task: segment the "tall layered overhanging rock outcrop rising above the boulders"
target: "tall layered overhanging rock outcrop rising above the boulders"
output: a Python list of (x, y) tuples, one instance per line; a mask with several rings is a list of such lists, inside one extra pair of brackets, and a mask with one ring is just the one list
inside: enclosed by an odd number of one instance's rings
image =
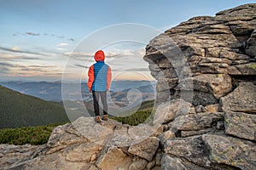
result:
[(212, 105), (237, 82), (255, 83), (255, 13), (255, 4), (242, 5), (215, 17), (192, 18), (154, 37), (144, 59), (158, 81), (157, 99), (188, 100), (189, 94), (193, 105)]

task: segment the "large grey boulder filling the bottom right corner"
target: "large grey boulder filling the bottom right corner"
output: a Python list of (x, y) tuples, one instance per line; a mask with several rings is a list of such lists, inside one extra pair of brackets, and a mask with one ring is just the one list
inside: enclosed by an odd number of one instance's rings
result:
[(202, 139), (210, 151), (212, 162), (245, 170), (256, 169), (255, 143), (224, 134), (204, 134)]

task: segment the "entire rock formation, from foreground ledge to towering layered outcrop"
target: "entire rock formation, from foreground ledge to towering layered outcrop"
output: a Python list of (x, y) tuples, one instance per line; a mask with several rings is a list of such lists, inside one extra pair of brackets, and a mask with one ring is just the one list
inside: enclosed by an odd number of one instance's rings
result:
[(80, 117), (48, 144), (0, 145), (3, 169), (256, 169), (256, 4), (195, 17), (148, 44), (160, 105), (137, 127)]

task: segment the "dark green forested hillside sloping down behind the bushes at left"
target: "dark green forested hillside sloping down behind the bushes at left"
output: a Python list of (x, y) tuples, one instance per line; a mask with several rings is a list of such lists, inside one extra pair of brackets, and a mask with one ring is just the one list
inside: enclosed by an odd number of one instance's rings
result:
[(60, 104), (20, 94), (0, 86), (0, 129), (69, 122)]

